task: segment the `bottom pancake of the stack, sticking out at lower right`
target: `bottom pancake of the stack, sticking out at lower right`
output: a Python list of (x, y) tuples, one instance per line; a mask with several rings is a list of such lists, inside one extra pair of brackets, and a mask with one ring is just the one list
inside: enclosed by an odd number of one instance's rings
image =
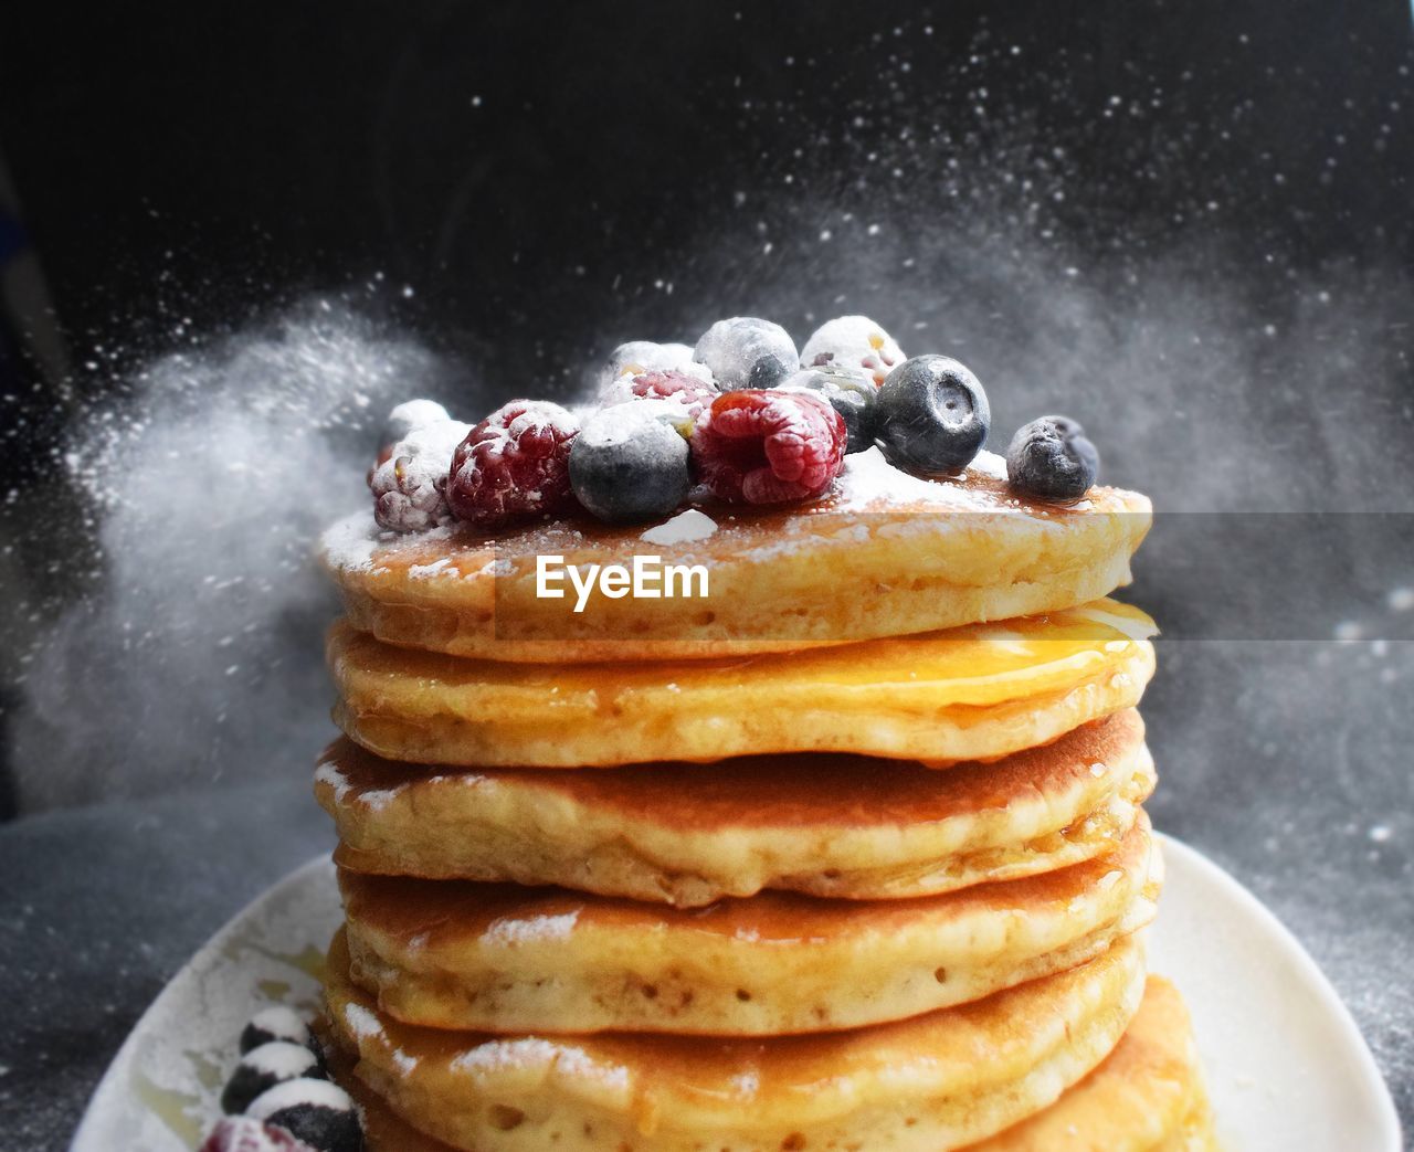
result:
[[(327, 1025), (324, 1025), (327, 1029)], [(363, 1114), (368, 1152), (451, 1152), (399, 1118), (328, 1047), (332, 1076)], [(806, 1149), (813, 1148), (806, 1132)], [(1114, 1052), (1049, 1108), (966, 1152), (1216, 1152), (1188, 1013), (1174, 987), (1150, 977)]]

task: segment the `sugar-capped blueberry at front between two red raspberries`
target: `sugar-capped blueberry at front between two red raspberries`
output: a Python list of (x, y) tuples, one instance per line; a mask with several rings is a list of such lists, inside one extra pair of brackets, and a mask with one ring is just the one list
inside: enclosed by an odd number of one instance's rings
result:
[(676, 509), (691, 485), (687, 441), (673, 425), (673, 414), (680, 411), (656, 400), (619, 404), (590, 417), (570, 448), (570, 482), (580, 503), (614, 524)]

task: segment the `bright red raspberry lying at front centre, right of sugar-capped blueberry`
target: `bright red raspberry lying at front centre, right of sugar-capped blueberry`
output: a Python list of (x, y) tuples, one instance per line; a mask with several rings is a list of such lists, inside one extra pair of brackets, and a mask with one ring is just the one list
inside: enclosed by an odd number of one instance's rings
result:
[(844, 420), (816, 396), (741, 389), (713, 400), (690, 441), (714, 496), (775, 505), (819, 496), (844, 462)]

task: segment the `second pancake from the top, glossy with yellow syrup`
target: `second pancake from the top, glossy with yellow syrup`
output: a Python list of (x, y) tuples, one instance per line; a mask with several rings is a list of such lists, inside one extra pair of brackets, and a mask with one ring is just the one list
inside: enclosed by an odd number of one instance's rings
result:
[(1001, 625), (738, 660), (503, 664), (329, 633), (356, 743), (420, 763), (583, 768), (771, 752), (950, 763), (1138, 703), (1152, 621), (1116, 601)]

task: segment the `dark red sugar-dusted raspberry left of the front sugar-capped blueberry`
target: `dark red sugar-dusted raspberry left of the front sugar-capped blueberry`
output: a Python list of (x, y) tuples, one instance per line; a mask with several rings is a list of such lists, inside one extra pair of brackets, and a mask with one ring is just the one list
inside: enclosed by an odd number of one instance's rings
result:
[(574, 507), (570, 442), (580, 424), (559, 404), (512, 400), (457, 447), (447, 481), (452, 515), (492, 530)]

